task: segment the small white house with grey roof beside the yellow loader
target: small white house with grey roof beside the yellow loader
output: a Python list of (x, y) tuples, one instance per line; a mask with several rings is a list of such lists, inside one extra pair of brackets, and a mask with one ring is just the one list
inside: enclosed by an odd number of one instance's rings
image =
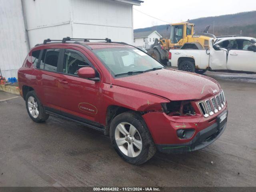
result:
[(150, 48), (154, 44), (155, 38), (160, 39), (162, 36), (157, 31), (151, 32), (134, 32), (133, 44), (137, 47)]

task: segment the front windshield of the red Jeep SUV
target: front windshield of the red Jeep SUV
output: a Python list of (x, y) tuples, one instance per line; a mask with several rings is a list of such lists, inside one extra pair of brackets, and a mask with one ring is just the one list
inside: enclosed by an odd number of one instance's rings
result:
[(104, 48), (92, 51), (114, 76), (138, 74), (165, 68), (148, 54), (136, 48)]

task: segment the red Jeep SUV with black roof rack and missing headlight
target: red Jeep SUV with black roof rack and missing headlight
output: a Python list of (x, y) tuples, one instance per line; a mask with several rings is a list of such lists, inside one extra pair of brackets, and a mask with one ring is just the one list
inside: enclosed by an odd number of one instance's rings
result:
[(89, 40), (47, 39), (30, 50), (18, 82), (34, 122), (51, 114), (99, 130), (132, 164), (156, 150), (202, 149), (224, 132), (227, 103), (218, 82), (167, 69), (123, 42)]

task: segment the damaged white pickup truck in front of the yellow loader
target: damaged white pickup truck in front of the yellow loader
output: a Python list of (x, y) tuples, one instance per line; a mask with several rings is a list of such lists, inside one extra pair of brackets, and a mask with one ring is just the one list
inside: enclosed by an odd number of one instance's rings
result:
[(170, 50), (171, 66), (179, 70), (203, 74), (206, 70), (232, 70), (256, 72), (256, 38), (226, 37), (210, 39), (209, 48), (189, 43)]

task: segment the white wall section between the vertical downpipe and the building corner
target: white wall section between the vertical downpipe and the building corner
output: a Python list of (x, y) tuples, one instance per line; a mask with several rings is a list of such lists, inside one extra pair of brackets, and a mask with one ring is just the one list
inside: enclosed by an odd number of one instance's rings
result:
[(23, 0), (30, 46), (72, 36), (70, 0)]

